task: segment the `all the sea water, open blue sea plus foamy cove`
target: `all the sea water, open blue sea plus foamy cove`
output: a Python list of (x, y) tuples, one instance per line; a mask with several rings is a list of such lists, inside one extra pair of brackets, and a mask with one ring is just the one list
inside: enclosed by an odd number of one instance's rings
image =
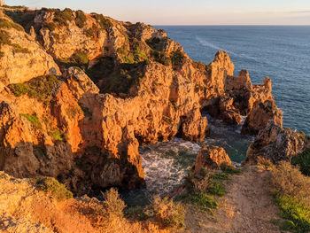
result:
[[(276, 105), (283, 111), (283, 127), (310, 134), (310, 26), (156, 26), (164, 29), (195, 61), (209, 64), (218, 50), (226, 50), (235, 75), (247, 69), (252, 83), (271, 78)], [(210, 135), (203, 142), (172, 142), (140, 147), (146, 188), (132, 190), (128, 205), (141, 204), (154, 194), (165, 195), (190, 172), (203, 144), (222, 146), (239, 165), (253, 136), (240, 134), (242, 125), (226, 126), (207, 113)], [(244, 119), (243, 119), (244, 120)]]

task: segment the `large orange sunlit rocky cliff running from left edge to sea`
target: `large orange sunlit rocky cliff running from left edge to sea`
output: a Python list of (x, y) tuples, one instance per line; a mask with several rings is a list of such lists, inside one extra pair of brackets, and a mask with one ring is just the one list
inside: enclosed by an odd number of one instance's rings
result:
[(200, 141), (201, 111), (238, 124), (253, 106), (274, 103), (270, 79), (252, 85), (245, 70), (235, 77), (226, 52), (209, 65), (194, 62), (143, 23), (70, 9), (5, 13), (0, 169), (10, 175), (57, 177), (76, 194), (133, 189), (143, 185), (139, 144)]

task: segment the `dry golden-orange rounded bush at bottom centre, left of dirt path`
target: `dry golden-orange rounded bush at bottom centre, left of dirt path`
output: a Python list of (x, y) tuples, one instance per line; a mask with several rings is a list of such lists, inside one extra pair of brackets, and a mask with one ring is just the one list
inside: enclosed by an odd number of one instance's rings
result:
[(185, 226), (184, 207), (172, 199), (155, 197), (152, 203), (154, 215), (165, 228), (181, 229)]

